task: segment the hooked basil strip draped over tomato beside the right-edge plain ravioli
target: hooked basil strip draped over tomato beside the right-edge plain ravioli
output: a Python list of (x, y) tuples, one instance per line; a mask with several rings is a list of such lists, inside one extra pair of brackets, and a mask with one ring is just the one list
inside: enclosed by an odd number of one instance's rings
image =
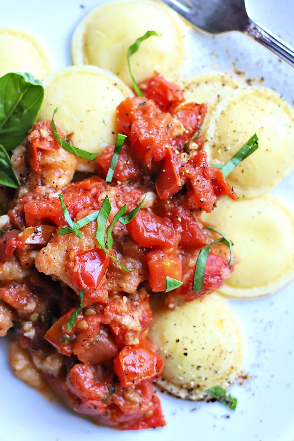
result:
[(202, 285), (203, 285), (203, 278), (204, 278), (204, 272), (206, 267), (206, 262), (208, 258), (209, 248), (212, 244), (217, 244), (221, 242), (222, 244), (227, 245), (230, 248), (230, 262), (229, 265), (232, 265), (234, 260), (233, 255), (233, 248), (234, 245), (233, 242), (228, 239), (221, 231), (217, 230), (217, 228), (212, 226), (207, 226), (206, 228), (209, 228), (210, 230), (216, 231), (219, 233), (222, 237), (219, 239), (216, 239), (215, 241), (211, 242), (211, 244), (208, 244), (206, 246), (203, 246), (203, 248), (200, 249), (199, 255), (197, 257), (196, 266), (195, 266), (195, 272), (194, 272), (194, 278), (193, 278), (193, 291), (201, 291)]

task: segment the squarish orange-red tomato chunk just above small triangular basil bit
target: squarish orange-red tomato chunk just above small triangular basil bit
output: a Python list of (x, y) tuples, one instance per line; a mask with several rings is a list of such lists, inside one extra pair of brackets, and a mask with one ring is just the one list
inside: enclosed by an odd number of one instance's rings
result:
[(153, 292), (166, 290), (166, 277), (182, 278), (182, 262), (178, 256), (171, 256), (162, 250), (152, 250), (145, 255), (149, 269), (149, 286)]

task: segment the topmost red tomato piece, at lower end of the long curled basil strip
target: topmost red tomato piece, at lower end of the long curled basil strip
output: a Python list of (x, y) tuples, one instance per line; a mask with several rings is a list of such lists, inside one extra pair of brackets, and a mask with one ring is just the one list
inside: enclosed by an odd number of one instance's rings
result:
[(163, 112), (172, 112), (181, 102), (185, 101), (184, 94), (174, 83), (161, 75), (155, 75), (139, 85), (145, 97), (153, 99)]

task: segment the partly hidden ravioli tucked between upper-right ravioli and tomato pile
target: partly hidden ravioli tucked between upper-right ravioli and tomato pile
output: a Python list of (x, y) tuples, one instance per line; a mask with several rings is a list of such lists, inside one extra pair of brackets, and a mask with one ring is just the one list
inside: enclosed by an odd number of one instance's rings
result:
[(218, 103), (238, 87), (245, 86), (240, 80), (221, 72), (205, 72), (184, 76), (178, 84), (187, 102), (207, 103), (207, 114), (202, 124), (202, 131), (206, 129), (212, 112)]

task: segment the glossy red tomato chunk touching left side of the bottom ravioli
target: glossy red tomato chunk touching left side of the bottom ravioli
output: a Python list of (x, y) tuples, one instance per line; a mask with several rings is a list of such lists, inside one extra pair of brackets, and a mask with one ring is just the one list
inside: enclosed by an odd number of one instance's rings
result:
[(142, 337), (134, 346), (124, 346), (114, 358), (114, 371), (123, 387), (133, 386), (159, 375), (163, 360), (153, 352)]

